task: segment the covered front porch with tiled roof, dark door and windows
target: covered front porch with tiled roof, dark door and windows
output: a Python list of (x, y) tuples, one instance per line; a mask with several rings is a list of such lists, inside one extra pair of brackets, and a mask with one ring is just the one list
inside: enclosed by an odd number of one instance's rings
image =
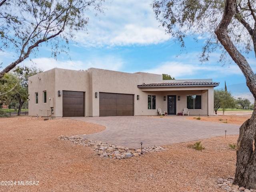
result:
[[(188, 108), (189, 115), (214, 115), (214, 87), (215, 82), (171, 82), (160, 84), (142, 84), (138, 88), (148, 95), (148, 105), (161, 108), (168, 115), (182, 113)], [(150, 98), (151, 97), (151, 98)], [(155, 103), (152, 102), (153, 97)], [(150, 106), (148, 106), (150, 110)]]

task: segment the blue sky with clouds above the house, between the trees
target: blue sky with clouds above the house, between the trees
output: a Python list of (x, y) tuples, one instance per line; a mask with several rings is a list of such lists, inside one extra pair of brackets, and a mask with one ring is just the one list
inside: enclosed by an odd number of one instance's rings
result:
[[(222, 66), (218, 52), (212, 53), (210, 61), (201, 64), (198, 59), (204, 39), (198, 43), (192, 38), (186, 40), (186, 51), (165, 34), (155, 19), (148, 0), (112, 0), (105, 2), (104, 14), (90, 17), (88, 32), (76, 34), (77, 44), (70, 43), (70, 57), (61, 54), (58, 60), (51, 58), (48, 47), (39, 48), (36, 58), (31, 55), (36, 66), (43, 70), (54, 67), (72, 70), (102, 68), (121, 72), (148, 72), (169, 74), (176, 79), (212, 78), (220, 82), (219, 87), (245, 83), (245, 78), (234, 63)], [(3, 67), (10, 64), (13, 53), (0, 53)], [(177, 57), (177, 55), (179, 56)], [(255, 56), (248, 58), (253, 70), (256, 69)], [(30, 66), (28, 60), (22, 64)]]

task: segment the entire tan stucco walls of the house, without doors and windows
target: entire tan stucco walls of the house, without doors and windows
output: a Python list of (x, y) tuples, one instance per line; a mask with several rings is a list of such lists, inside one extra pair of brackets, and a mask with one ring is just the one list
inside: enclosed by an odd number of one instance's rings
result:
[[(185, 82), (188, 80), (162, 80), (162, 74), (124, 73), (111, 70), (90, 68), (87, 71), (52, 70), (34, 75), (29, 78), (29, 115), (47, 116), (50, 102), (44, 104), (43, 91), (47, 91), (47, 98), (54, 98), (54, 118), (62, 117), (62, 96), (58, 97), (58, 90), (85, 92), (85, 116), (99, 116), (99, 98), (95, 92), (133, 94), (134, 115), (157, 115), (157, 108), (167, 112), (167, 96), (176, 95), (176, 113), (186, 107), (187, 95), (202, 95), (202, 109), (190, 110), (190, 115), (213, 115), (213, 87), (171, 87), (171, 88), (138, 88), (141, 84), (161, 82)], [(189, 81), (211, 81), (189, 80)], [(38, 92), (38, 104), (35, 104), (35, 92)], [(140, 95), (140, 100), (136, 96)], [(156, 110), (148, 110), (148, 95), (156, 95)], [(164, 101), (166, 96), (166, 101)], [(180, 96), (180, 101), (178, 101)], [(49, 113), (49, 112), (48, 112)]]

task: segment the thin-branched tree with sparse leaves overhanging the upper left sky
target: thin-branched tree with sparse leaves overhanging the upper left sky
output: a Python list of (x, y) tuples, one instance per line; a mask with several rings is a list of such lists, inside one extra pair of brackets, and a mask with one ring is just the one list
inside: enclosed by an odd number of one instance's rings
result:
[(56, 58), (68, 50), (77, 31), (86, 30), (90, 10), (102, 12), (104, 0), (0, 0), (0, 50), (13, 48), (17, 59), (0, 72), (0, 78), (45, 43)]

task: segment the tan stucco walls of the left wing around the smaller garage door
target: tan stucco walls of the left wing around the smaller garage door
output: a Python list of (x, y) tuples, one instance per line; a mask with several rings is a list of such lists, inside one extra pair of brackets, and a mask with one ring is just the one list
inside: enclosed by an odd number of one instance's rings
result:
[[(86, 91), (89, 90), (88, 72), (65, 70), (54, 68), (46, 72), (36, 74), (28, 78), (29, 112), (31, 116), (47, 116), (50, 110), (49, 98), (54, 98), (54, 118), (62, 117), (62, 96), (58, 96), (58, 90), (85, 92), (85, 100), (88, 97)], [(43, 91), (46, 90), (47, 102), (43, 103)], [(38, 104), (35, 104), (35, 93), (38, 92)], [(86, 102), (85, 102), (86, 103)], [(85, 112), (86, 113), (86, 112)]]

